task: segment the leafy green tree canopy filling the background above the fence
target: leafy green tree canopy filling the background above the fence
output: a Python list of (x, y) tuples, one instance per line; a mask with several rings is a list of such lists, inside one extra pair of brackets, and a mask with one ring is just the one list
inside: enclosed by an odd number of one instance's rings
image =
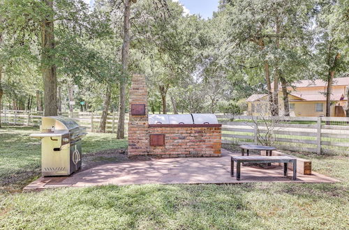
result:
[(1, 107), (45, 115), (75, 107), (122, 119), (135, 72), (147, 76), (151, 112), (242, 112), (267, 93), (277, 115), (280, 85), (287, 115), (299, 79), (331, 86), (348, 74), (345, 0), (220, 1), (209, 19), (171, 0), (2, 0), (0, 22)]

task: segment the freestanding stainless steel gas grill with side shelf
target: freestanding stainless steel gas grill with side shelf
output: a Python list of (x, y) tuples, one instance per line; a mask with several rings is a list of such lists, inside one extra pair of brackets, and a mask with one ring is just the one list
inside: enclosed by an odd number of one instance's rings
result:
[(86, 129), (64, 116), (42, 118), (40, 133), (30, 135), (41, 139), (43, 176), (68, 176), (81, 168), (81, 142)]

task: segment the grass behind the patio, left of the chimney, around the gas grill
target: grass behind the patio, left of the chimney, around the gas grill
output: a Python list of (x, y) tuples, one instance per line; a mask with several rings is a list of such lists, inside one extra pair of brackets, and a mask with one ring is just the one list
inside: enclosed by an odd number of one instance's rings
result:
[[(26, 183), (40, 174), (40, 140), (29, 137), (38, 128), (4, 126), (0, 129), (0, 187)], [(82, 143), (82, 152), (91, 153), (110, 148), (127, 148), (126, 140), (116, 135), (89, 133)]]

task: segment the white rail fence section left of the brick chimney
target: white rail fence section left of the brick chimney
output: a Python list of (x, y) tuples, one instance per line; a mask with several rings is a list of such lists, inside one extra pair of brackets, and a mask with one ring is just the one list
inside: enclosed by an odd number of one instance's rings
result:
[[(81, 127), (87, 128), (89, 132), (96, 132), (99, 129), (102, 112), (59, 112), (61, 116), (73, 118)], [(1, 123), (13, 125), (40, 125), (43, 112), (25, 110), (1, 110)], [(117, 112), (108, 113), (106, 132), (117, 132)], [(125, 117), (125, 132), (127, 133), (128, 114)]]

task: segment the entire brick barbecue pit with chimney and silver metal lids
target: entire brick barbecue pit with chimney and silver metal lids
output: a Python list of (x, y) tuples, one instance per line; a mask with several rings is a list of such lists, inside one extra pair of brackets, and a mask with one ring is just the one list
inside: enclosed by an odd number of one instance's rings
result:
[(128, 155), (159, 158), (221, 156), (221, 124), (214, 114), (149, 115), (144, 75), (130, 90)]

